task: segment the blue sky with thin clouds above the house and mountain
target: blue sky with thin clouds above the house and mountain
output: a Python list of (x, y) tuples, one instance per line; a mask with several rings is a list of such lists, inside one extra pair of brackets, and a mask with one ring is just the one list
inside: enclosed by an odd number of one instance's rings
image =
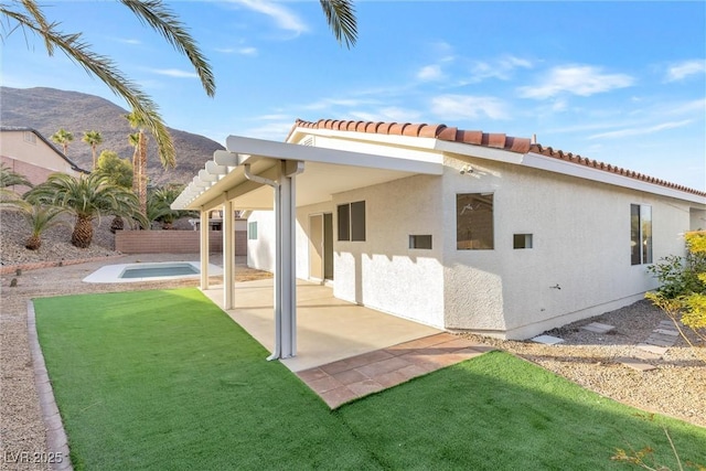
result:
[[(228, 135), (281, 141), (297, 118), (440, 122), (536, 135), (545, 147), (706, 190), (703, 1), (359, 1), (350, 50), (318, 1), (169, 2), (213, 66), (215, 98), (117, 2), (41, 3), (64, 32), (83, 32), (113, 57), (168, 126), (221, 143)], [(2, 85), (125, 107), (42, 47), (21, 32), (7, 38)]]

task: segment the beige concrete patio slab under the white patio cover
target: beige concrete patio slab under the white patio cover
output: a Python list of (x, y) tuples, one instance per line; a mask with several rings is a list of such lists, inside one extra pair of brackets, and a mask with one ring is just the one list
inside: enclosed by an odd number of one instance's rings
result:
[[(222, 286), (211, 287), (204, 293), (223, 308)], [(226, 311), (228, 315), (271, 352), (275, 338), (272, 280), (236, 283), (234, 302), (235, 309)], [(297, 280), (297, 356), (281, 362), (292, 372), (300, 372), (441, 332), (336, 299), (330, 287)], [(448, 340), (458, 339), (445, 335)], [(410, 349), (418, 346), (410, 345)]]

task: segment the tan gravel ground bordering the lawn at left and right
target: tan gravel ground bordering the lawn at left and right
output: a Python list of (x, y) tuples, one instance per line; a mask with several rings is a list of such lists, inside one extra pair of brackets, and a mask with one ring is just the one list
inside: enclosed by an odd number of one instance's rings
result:
[[(14, 270), (1, 277), (0, 301), (0, 457), (26, 451), (46, 453), (46, 433), (42, 422), (34, 386), (32, 358), (28, 346), (26, 303), (32, 298), (85, 292), (126, 291), (151, 288), (196, 286), (194, 280), (153, 281), (148, 283), (90, 285), (81, 280), (103, 265), (135, 261), (197, 260), (197, 255), (127, 256), (113, 250), (113, 235), (107, 231), (109, 218), (96, 227), (94, 245), (77, 249), (69, 243), (71, 229), (56, 227), (43, 236), (43, 247), (31, 253), (24, 248), (26, 227), (17, 215), (0, 211), (0, 255), (3, 268), (41, 261), (64, 261), (63, 266)], [(98, 261), (72, 265), (71, 261)], [(109, 261), (106, 261), (108, 259)], [(239, 271), (238, 271), (239, 270)], [(238, 267), (239, 279), (268, 276)], [(11, 287), (12, 280), (17, 286)], [(252, 278), (250, 278), (252, 279)], [(683, 339), (677, 339), (660, 357), (645, 360), (655, 370), (641, 372), (622, 364), (619, 358), (634, 357), (661, 321), (667, 319), (648, 301), (605, 313), (547, 332), (561, 338), (563, 343), (544, 345), (531, 341), (501, 341), (468, 335), (474, 340), (509, 351), (565, 376), (599, 394), (706, 427), (706, 365)], [(614, 327), (599, 334), (581, 329), (590, 322)], [(699, 345), (704, 349), (706, 345)], [(617, 443), (620, 446), (621, 443)], [(0, 460), (0, 469), (50, 469), (49, 464), (26, 464), (18, 468)]]

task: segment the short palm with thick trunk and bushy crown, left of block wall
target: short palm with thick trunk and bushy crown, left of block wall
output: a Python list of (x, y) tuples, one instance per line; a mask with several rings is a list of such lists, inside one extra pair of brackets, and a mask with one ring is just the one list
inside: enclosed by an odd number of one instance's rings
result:
[(135, 217), (141, 224), (147, 223), (139, 213), (135, 194), (108, 183), (106, 176), (98, 173), (81, 176), (53, 173), (46, 182), (28, 192), (25, 199), (32, 204), (61, 206), (74, 214), (76, 222), (71, 243), (78, 248), (90, 246), (93, 221), (101, 215)]

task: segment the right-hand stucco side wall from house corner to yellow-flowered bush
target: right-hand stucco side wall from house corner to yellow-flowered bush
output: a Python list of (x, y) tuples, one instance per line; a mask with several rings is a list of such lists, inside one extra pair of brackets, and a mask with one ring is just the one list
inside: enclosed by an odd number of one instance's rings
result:
[[(473, 174), (459, 173), (466, 162)], [(653, 260), (683, 253), (689, 207), (677, 200), (504, 163), (447, 164), (445, 226), (467, 192), (494, 193), (495, 223), (493, 250), (456, 250), (446, 234), (447, 328), (524, 339), (641, 299), (656, 282), (630, 263), (630, 204), (652, 206)], [(533, 248), (513, 249), (513, 234), (533, 234)]]

